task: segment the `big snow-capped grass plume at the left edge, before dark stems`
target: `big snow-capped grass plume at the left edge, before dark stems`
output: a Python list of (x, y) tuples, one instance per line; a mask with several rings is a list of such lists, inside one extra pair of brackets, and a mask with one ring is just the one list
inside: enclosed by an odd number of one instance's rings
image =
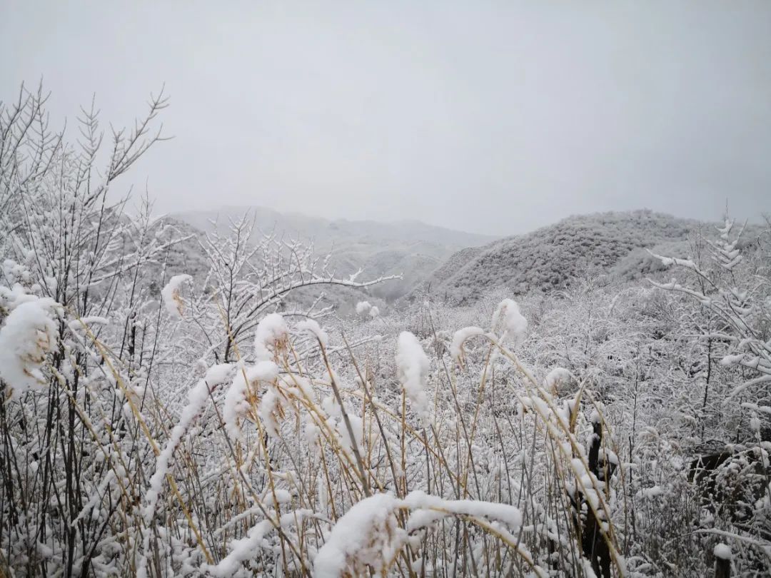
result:
[(14, 398), (45, 385), (42, 367), (56, 346), (56, 301), (49, 297), (24, 301), (11, 311), (0, 328), (0, 378)]

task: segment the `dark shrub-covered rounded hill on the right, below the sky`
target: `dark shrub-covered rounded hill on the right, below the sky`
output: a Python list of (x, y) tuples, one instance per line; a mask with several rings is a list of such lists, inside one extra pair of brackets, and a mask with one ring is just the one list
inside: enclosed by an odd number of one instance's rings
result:
[(704, 225), (650, 210), (568, 217), (529, 234), (458, 251), (408, 298), (428, 292), (463, 304), (490, 289), (550, 291), (586, 274), (641, 277), (659, 268), (645, 248), (687, 254), (689, 236), (699, 227)]

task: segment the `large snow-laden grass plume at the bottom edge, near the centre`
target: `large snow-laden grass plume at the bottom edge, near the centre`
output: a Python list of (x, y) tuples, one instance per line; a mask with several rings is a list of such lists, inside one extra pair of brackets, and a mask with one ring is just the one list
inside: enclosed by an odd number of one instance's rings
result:
[(380, 493), (357, 502), (338, 519), (313, 561), (315, 578), (356, 575), (372, 566), (375, 573), (398, 552), (404, 538), (396, 524), (399, 501)]

